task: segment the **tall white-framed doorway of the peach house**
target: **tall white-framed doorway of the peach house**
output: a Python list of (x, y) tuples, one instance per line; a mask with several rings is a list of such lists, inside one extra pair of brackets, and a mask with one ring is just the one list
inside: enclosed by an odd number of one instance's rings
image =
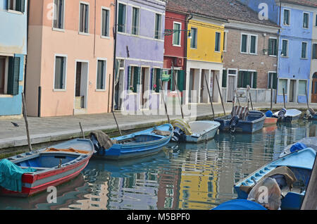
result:
[(88, 63), (76, 62), (75, 110), (87, 108)]

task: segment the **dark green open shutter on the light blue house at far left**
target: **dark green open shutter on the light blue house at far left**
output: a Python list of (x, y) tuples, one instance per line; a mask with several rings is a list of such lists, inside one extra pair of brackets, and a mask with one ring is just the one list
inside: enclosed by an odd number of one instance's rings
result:
[(20, 58), (9, 57), (8, 62), (8, 94), (19, 94)]

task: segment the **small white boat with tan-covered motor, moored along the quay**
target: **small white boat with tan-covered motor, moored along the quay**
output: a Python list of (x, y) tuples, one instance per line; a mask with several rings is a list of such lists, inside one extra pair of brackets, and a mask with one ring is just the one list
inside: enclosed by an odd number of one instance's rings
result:
[(173, 123), (174, 142), (203, 142), (215, 137), (220, 123), (211, 120), (200, 120), (186, 123), (184, 120), (175, 120)]

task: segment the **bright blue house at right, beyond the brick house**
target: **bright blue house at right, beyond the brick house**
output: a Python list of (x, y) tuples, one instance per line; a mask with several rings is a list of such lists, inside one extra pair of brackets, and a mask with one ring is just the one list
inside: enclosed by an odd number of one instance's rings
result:
[[(240, 0), (257, 12), (268, 7), (268, 19), (281, 29), (278, 40), (272, 43), (278, 49), (277, 102), (306, 103), (309, 95), (313, 11), (316, 3), (301, 0)], [(266, 4), (266, 5), (264, 5)], [(284, 91), (283, 91), (284, 89)], [(309, 96), (308, 96), (309, 97)]]

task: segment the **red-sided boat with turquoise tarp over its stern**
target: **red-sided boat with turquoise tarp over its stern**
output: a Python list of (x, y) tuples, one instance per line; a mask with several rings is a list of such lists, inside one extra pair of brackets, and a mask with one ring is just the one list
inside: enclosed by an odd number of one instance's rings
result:
[(0, 194), (30, 197), (75, 178), (94, 153), (89, 139), (73, 139), (0, 161)]

